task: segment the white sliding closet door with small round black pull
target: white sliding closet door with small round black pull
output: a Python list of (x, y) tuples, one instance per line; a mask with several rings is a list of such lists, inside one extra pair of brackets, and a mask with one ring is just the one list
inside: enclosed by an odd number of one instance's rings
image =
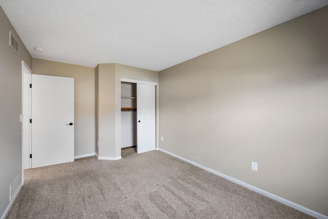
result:
[(155, 86), (137, 84), (137, 152), (156, 147)]

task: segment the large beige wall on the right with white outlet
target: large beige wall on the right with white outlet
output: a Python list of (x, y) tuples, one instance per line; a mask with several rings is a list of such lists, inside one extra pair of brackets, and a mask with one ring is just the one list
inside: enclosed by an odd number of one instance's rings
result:
[(160, 148), (328, 215), (326, 21), (328, 7), (161, 71)]

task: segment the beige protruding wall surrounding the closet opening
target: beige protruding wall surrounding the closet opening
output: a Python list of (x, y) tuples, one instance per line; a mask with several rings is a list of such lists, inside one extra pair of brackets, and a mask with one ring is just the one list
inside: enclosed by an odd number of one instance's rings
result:
[[(99, 64), (96, 75), (98, 155), (117, 158), (121, 156), (121, 78), (158, 83), (158, 72), (120, 64)], [(158, 86), (156, 101), (158, 104)], [(156, 122), (158, 132), (158, 115)]]

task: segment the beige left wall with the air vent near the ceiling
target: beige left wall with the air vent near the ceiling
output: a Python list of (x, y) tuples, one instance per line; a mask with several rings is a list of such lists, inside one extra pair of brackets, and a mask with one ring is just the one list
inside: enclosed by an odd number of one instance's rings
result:
[[(9, 187), (19, 174), (22, 183), (22, 60), (32, 68), (32, 57), (0, 7), (0, 217), (9, 205)], [(9, 47), (9, 31), (19, 43), (19, 54)]]

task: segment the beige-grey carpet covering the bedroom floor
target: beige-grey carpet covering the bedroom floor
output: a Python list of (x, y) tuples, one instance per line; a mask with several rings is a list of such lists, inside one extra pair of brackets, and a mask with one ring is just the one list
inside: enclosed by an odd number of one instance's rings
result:
[(7, 218), (313, 218), (160, 151), (29, 169)]

